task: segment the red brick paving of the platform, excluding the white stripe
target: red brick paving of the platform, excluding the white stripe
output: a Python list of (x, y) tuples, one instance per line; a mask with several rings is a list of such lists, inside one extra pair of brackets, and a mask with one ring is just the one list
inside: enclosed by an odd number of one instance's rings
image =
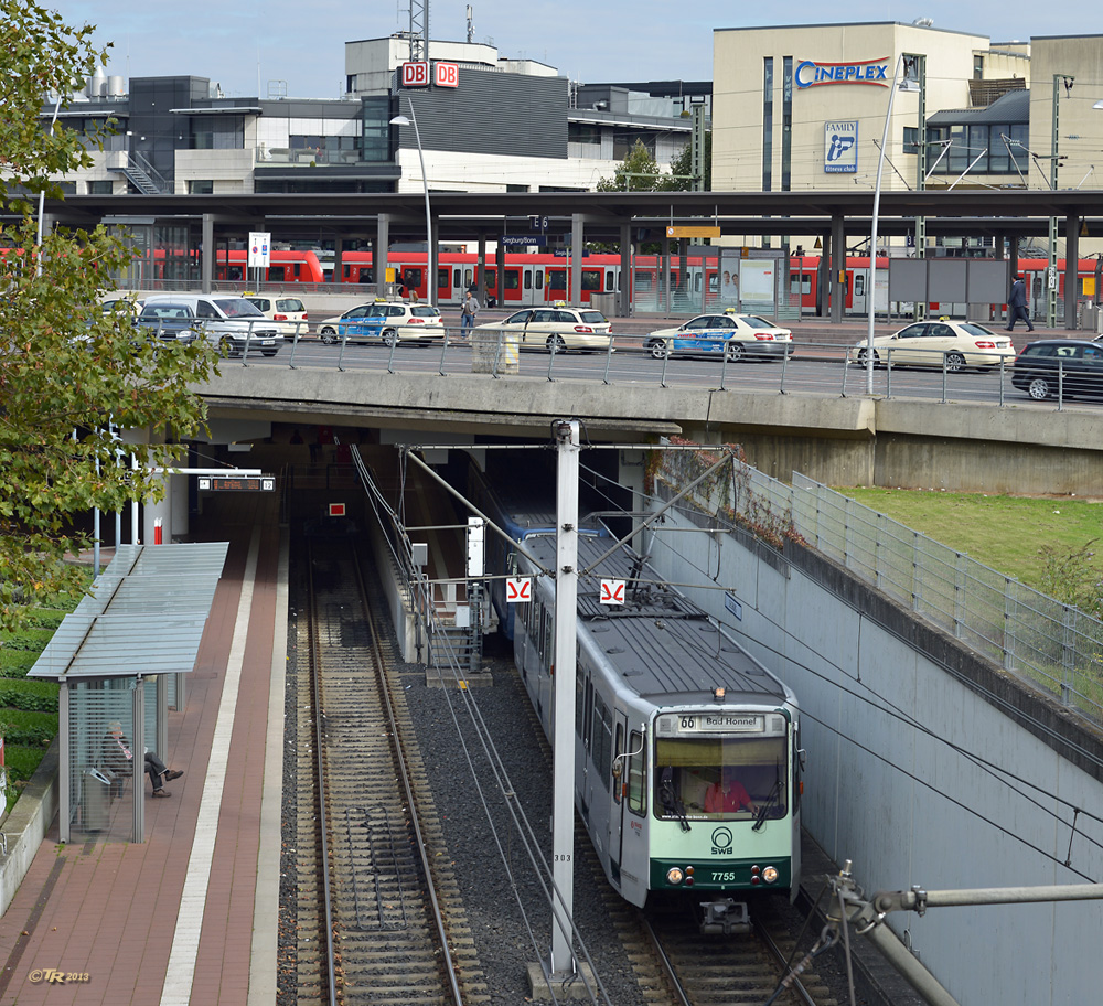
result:
[[(231, 548), (189, 676), (186, 707), (169, 714), (165, 761), (185, 774), (168, 785), (168, 800), (152, 800), (143, 788), (146, 842), (140, 845), (127, 841), (126, 811), (116, 811), (109, 831), (88, 839), (76, 835), (67, 845), (58, 842), (54, 822), (0, 919), (3, 1006), (161, 1003), (246, 556), (258, 526), (240, 688), (191, 988), (194, 1006), (247, 1003), (280, 550), (276, 503), (249, 494), (235, 501), (233, 516), (214, 515), (199, 526), (196, 538), (229, 539)], [(282, 652), (283, 640), (278, 644)]]

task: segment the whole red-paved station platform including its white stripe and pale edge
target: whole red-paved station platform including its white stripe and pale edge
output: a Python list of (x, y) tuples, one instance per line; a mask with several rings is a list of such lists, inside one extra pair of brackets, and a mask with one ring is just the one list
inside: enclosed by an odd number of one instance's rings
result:
[(184, 708), (170, 711), (158, 752), (184, 774), (163, 800), (136, 780), (142, 844), (114, 822), (63, 844), (54, 820), (0, 918), (0, 1004), (276, 1002), (288, 610), (278, 507), (276, 493), (227, 494), (193, 524), (190, 541), (231, 544)]

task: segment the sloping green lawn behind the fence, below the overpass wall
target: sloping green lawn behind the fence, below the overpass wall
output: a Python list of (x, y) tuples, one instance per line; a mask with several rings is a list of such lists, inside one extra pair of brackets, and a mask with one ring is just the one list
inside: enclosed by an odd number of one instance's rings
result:
[(836, 489), (1039, 590), (1043, 589), (1045, 546), (1057, 555), (1068, 555), (1094, 541), (1092, 566), (1103, 578), (1103, 503), (908, 489)]

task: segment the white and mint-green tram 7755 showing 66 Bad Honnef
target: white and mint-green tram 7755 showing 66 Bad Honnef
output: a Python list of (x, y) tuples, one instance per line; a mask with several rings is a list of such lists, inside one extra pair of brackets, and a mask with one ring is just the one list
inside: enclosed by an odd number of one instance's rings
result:
[[(513, 527), (544, 525), (518, 537), (554, 568), (546, 515), (512, 516)], [(580, 535), (579, 568), (611, 541), (597, 527)], [(537, 571), (520, 553), (510, 567)], [(599, 577), (628, 581), (623, 607), (599, 603)], [(640, 907), (653, 892), (682, 892), (705, 903), (707, 918), (756, 889), (793, 898), (803, 757), (796, 699), (657, 580), (628, 548), (579, 579), (575, 802), (593, 847), (609, 881)], [(515, 612), (514, 655), (550, 736), (555, 588), (548, 577), (534, 585), (532, 602)]]

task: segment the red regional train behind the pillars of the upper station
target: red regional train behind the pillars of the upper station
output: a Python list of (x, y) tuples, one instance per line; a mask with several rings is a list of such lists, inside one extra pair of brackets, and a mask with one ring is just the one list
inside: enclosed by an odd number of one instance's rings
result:
[[(160, 256), (158, 256), (160, 259)], [(409, 296), (428, 298), (425, 252), (398, 252), (387, 258), (387, 266), (396, 270), (404, 291)], [(678, 297), (689, 304), (690, 310), (710, 308), (718, 297), (719, 267), (716, 258), (689, 256), (685, 276), (681, 260), (670, 259), (670, 290), (675, 300)], [(160, 265), (160, 261), (159, 261)], [(1027, 280), (1031, 304), (1045, 298), (1045, 258), (1020, 258), (1019, 271)], [(1096, 259), (1080, 259), (1077, 296), (1079, 299), (1096, 299)], [(436, 264), (437, 302), (458, 304), (472, 283), (479, 281), (479, 257), (471, 252), (442, 252)], [(789, 298), (793, 307), (799, 300), (801, 310), (815, 313), (820, 285), (817, 281), (821, 259), (818, 256), (792, 256), (789, 260)], [(250, 278), (246, 269), (246, 252), (221, 250), (216, 261), (216, 278), (223, 281), (245, 282)], [(346, 252), (341, 259), (341, 275), (333, 276), (333, 265), (319, 258), (315, 252), (274, 250), (270, 265), (263, 277), (269, 283), (375, 283), (370, 252)], [(877, 268), (888, 268), (888, 258), (879, 257)], [(161, 271), (158, 269), (157, 271)], [(655, 255), (636, 255), (632, 260), (632, 297), (636, 302), (661, 296), (661, 261)], [(574, 300), (570, 290), (571, 269), (569, 260), (547, 253), (506, 253), (504, 280), (500, 288), (497, 266), (493, 259), (486, 261), (486, 291), (499, 304), (513, 308), (528, 304), (548, 303), (556, 300)], [(161, 277), (159, 277), (161, 278)], [(1090, 281), (1090, 282), (1089, 282)], [(1058, 296), (1064, 297), (1064, 260), (1058, 260)], [(622, 285), (621, 258), (618, 254), (587, 255), (581, 266), (581, 291), (579, 300), (589, 303), (596, 293), (619, 292)], [(846, 260), (846, 286), (844, 287), (844, 312), (865, 315), (869, 310), (870, 276), (869, 256), (849, 256)], [(703, 296), (704, 295), (704, 296)], [(936, 304), (931, 306), (938, 310)]]

